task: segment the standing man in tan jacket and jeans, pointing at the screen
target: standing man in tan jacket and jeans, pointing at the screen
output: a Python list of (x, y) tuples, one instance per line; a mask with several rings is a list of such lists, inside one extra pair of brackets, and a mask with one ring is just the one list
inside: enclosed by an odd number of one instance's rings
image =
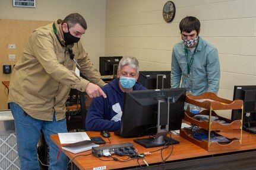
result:
[[(106, 98), (100, 88), (105, 82), (79, 41), (86, 29), (86, 20), (77, 13), (37, 28), (15, 65), (8, 102), (14, 116), (21, 169), (40, 169), (37, 143), (41, 130), (49, 146), (49, 169), (67, 169), (64, 153), (56, 161), (58, 147), (50, 135), (67, 132), (65, 102), (70, 88), (86, 91), (91, 98)], [(75, 74), (76, 66), (88, 80)]]

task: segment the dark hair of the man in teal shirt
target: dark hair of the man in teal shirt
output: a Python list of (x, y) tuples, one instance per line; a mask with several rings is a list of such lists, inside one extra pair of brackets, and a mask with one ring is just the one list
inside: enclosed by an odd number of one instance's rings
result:
[(190, 33), (195, 30), (198, 34), (200, 31), (200, 21), (195, 17), (185, 17), (181, 20), (181, 23), (179, 23), (179, 30), (181, 30), (181, 33), (183, 31)]

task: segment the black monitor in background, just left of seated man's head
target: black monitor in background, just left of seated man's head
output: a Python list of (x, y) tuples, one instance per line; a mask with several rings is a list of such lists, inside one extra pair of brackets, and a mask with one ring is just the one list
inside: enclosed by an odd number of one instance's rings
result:
[(100, 57), (100, 75), (116, 78), (119, 61), (122, 56)]

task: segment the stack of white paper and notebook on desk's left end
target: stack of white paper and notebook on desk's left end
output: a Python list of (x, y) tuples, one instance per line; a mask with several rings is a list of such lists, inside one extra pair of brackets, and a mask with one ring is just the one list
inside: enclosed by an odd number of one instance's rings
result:
[(86, 132), (58, 133), (58, 135), (61, 144), (69, 143), (68, 145), (62, 146), (62, 149), (68, 152), (79, 153), (90, 150), (91, 147), (99, 146), (91, 142)]

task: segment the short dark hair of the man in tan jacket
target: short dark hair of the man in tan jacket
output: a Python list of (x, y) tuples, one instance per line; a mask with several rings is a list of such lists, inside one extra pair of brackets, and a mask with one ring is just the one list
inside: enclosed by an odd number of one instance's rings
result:
[(69, 28), (74, 27), (75, 24), (80, 24), (85, 30), (87, 29), (86, 20), (84, 17), (78, 13), (69, 14), (63, 21), (63, 23), (67, 23)]

